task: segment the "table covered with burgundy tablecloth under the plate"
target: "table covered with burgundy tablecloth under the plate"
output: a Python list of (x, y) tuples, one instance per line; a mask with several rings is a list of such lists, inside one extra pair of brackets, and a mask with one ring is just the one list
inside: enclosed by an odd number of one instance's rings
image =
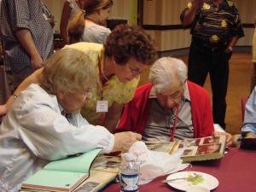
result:
[[(256, 151), (229, 148), (229, 153), (221, 160), (208, 160), (192, 163), (185, 171), (206, 172), (218, 178), (218, 187), (214, 192), (255, 192), (256, 191)], [(177, 192), (158, 177), (151, 183), (141, 185), (140, 192), (160, 191)], [(119, 183), (110, 183), (103, 192), (119, 191)]]

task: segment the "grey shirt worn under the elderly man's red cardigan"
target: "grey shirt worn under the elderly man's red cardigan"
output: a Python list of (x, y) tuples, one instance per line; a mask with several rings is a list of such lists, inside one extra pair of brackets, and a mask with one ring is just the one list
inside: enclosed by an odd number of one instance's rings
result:
[[(173, 129), (176, 116), (172, 110), (169, 110), (168, 116), (166, 117), (166, 111), (157, 101), (154, 89), (151, 90), (149, 99), (151, 99), (151, 106), (148, 114), (148, 122), (143, 132), (143, 141), (170, 141), (171, 131), (169, 130), (168, 121), (170, 121), (171, 129)], [(174, 133), (174, 140), (194, 137), (190, 103), (188, 84), (185, 84), (183, 100), (180, 103), (180, 109), (177, 116), (177, 128)]]

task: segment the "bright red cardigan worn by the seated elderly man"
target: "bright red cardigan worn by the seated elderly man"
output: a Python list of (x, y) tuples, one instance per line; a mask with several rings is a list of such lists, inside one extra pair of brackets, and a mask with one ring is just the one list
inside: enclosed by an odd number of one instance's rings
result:
[[(191, 100), (194, 137), (211, 136), (214, 131), (212, 108), (207, 90), (187, 81)], [(131, 102), (125, 104), (124, 112), (115, 132), (133, 131), (143, 134), (148, 120), (150, 100), (148, 99), (152, 84), (144, 84), (137, 88)]]

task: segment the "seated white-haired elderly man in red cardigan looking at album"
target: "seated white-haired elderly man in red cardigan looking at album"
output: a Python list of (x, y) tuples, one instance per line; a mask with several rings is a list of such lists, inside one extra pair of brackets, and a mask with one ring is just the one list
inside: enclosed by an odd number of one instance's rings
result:
[(207, 90), (187, 80), (183, 61), (160, 58), (150, 68), (149, 80), (125, 104), (114, 132), (137, 132), (146, 143), (225, 134), (231, 144), (230, 134), (214, 131)]

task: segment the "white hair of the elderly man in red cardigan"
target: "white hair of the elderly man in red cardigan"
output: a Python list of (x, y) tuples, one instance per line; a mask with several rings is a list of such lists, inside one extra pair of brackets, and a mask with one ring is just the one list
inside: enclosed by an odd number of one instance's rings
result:
[(157, 92), (170, 88), (174, 79), (184, 84), (187, 77), (188, 68), (185, 63), (173, 57), (162, 57), (155, 61), (149, 73), (149, 80)]

